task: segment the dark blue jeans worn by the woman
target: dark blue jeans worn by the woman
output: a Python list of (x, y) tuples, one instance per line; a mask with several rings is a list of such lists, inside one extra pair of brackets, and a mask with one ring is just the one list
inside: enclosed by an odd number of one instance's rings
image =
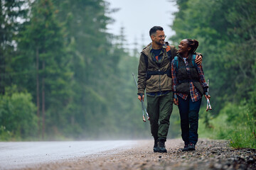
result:
[(201, 101), (193, 102), (191, 96), (186, 100), (178, 96), (178, 110), (181, 117), (181, 137), (185, 145), (198, 142), (198, 113)]

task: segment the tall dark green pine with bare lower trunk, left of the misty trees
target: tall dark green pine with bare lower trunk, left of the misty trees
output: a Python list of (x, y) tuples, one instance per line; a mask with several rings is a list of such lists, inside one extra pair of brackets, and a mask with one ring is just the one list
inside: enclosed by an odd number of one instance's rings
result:
[(48, 128), (55, 126), (56, 130), (62, 123), (65, 124), (61, 121), (61, 113), (68, 106), (70, 95), (70, 59), (65, 55), (63, 33), (55, 18), (56, 12), (51, 0), (34, 1), (31, 21), (26, 23), (26, 28), (21, 32), (18, 46), (19, 60), (26, 60), (22, 72), (33, 74), (25, 75), (30, 80), (29, 83), (17, 83), (26, 86), (36, 98), (37, 115), (40, 117), (40, 113), (42, 114), (42, 138), (46, 132), (46, 124)]

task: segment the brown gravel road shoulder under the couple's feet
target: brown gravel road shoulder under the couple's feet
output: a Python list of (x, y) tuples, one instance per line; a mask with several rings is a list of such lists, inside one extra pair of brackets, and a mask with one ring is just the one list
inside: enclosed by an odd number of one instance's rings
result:
[(154, 153), (152, 147), (153, 140), (142, 140), (115, 154), (102, 152), (33, 169), (256, 169), (255, 149), (233, 149), (223, 140), (199, 140), (196, 151), (189, 152), (181, 152), (181, 140), (168, 140), (168, 153)]

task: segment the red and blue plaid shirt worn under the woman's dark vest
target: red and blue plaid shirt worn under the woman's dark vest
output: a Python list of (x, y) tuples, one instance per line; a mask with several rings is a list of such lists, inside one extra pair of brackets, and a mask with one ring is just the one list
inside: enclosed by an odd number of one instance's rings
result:
[[(188, 60), (186, 60), (186, 66), (188, 66)], [(205, 89), (207, 87), (207, 83), (203, 74), (203, 67), (202, 64), (198, 65), (198, 67), (196, 67), (199, 77), (200, 77), (200, 83), (201, 86), (203, 87), (203, 89)], [(189, 71), (189, 67), (186, 67), (187, 73), (188, 75), (190, 74)], [(174, 94), (176, 94), (176, 86), (177, 86), (177, 72), (174, 66), (174, 60), (171, 61), (171, 76), (172, 76), (172, 83), (173, 83), (173, 91)], [(200, 91), (198, 91), (198, 89), (196, 89), (196, 87), (193, 85), (192, 81), (189, 81), (189, 91), (190, 91), (190, 96), (192, 101), (198, 101), (200, 98), (202, 98)], [(177, 93), (178, 96), (180, 96), (181, 98), (183, 98), (184, 100), (186, 100), (186, 98), (188, 98), (188, 94), (180, 94)]]

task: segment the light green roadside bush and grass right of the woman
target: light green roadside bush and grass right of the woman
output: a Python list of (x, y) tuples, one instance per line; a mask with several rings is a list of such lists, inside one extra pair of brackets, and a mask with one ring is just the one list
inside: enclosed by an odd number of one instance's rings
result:
[(226, 104), (220, 114), (210, 120), (212, 128), (206, 129), (202, 121), (198, 130), (201, 137), (230, 140), (230, 146), (235, 148), (256, 149), (256, 119), (250, 110), (252, 103), (242, 101), (240, 105)]

